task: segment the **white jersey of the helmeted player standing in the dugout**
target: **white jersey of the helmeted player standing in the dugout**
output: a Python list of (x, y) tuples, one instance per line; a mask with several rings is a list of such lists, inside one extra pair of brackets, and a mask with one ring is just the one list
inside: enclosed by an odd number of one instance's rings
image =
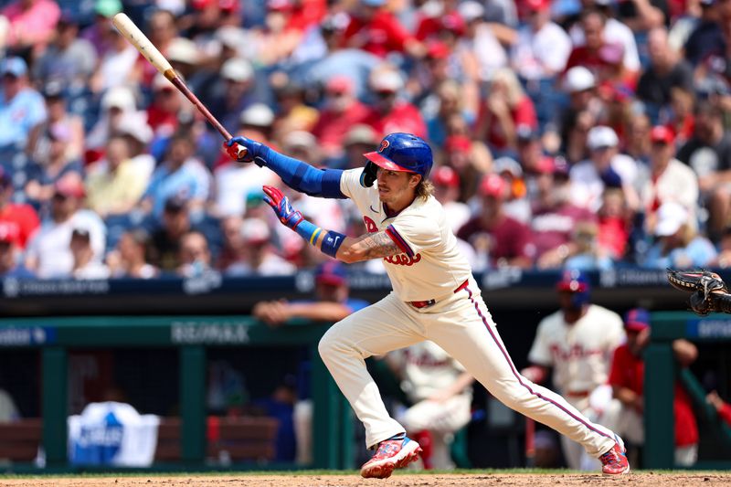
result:
[(614, 349), (625, 338), (620, 315), (596, 304), (577, 323), (560, 310), (538, 324), (528, 359), (554, 367), (554, 384), (562, 392), (592, 391), (605, 384)]

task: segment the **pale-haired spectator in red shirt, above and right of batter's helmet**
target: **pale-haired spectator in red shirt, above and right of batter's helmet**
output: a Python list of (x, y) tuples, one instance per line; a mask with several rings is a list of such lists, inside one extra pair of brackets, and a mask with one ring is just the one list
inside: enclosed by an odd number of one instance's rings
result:
[(538, 126), (533, 101), (525, 94), (512, 69), (495, 71), (490, 94), (480, 111), (476, 136), (497, 154), (516, 149), (519, 126), (533, 130)]

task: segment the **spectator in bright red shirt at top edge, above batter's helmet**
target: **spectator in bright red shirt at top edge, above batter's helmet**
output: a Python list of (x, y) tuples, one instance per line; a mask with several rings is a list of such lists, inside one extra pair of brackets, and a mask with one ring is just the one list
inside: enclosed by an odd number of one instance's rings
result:
[(390, 12), (386, 0), (360, 0), (345, 28), (345, 48), (363, 49), (380, 58), (389, 52), (406, 52), (420, 58), (424, 48)]

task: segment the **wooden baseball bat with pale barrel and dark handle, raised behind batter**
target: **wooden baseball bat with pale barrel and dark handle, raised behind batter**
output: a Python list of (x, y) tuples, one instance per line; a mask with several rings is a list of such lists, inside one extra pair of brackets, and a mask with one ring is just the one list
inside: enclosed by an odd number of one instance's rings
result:
[[(207, 121), (210, 122), (210, 124), (213, 125), (221, 135), (223, 135), (224, 139), (228, 141), (228, 139), (231, 138), (231, 133), (226, 130), (226, 127), (221, 125), (221, 122), (218, 122), (216, 117), (208, 111), (206, 105), (198, 100), (196, 94), (185, 86), (183, 79), (180, 79), (175, 72), (175, 69), (173, 69), (170, 65), (170, 61), (163, 56), (163, 53), (154, 47), (152, 41), (143, 34), (143, 31), (140, 30), (139, 27), (134, 25), (134, 22), (132, 22), (130, 17), (124, 13), (119, 13), (111, 18), (111, 23), (117, 27), (120, 34), (122, 34), (122, 36), (124, 36), (124, 38), (126, 38), (130, 44), (134, 46), (134, 48), (140, 51), (140, 54), (142, 54), (145, 59), (150, 61), (150, 64), (152, 64), (155, 69), (160, 71), (166, 79), (173, 83), (175, 88), (185, 95), (185, 98), (193, 103), (193, 106), (195, 106), (198, 111), (203, 113), (203, 116), (206, 117)], [(243, 156), (245, 153), (246, 149), (239, 146), (238, 157)]]

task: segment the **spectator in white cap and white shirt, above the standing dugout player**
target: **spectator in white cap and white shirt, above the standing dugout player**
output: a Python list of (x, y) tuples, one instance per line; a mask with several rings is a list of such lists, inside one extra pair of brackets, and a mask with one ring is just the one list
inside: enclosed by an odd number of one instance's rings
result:
[(639, 169), (629, 155), (619, 154), (620, 139), (610, 127), (599, 125), (588, 131), (589, 158), (571, 168), (571, 199), (577, 206), (596, 212), (606, 187), (620, 187), (630, 208), (639, 206), (634, 185)]

